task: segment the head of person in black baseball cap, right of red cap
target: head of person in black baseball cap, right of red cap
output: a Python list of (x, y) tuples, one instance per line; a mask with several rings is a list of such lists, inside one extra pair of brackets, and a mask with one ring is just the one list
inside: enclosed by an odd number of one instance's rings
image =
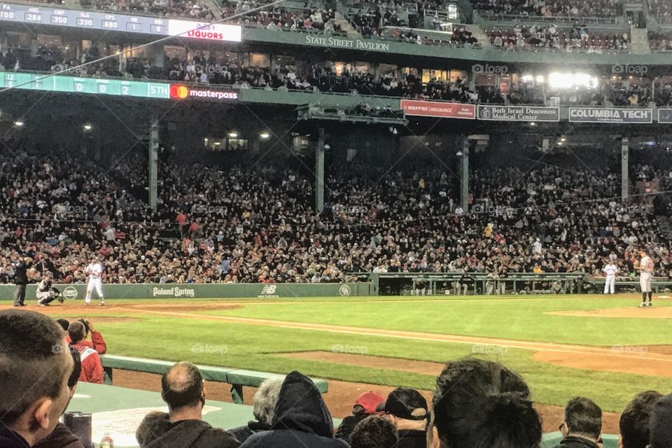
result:
[(391, 391), (385, 412), (399, 432), (398, 448), (425, 448), (427, 444), (427, 400), (412, 388)]

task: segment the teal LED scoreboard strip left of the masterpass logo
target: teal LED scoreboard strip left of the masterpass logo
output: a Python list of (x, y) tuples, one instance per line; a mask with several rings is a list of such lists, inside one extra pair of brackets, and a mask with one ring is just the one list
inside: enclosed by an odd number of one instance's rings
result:
[(106, 94), (127, 97), (169, 99), (169, 83), (151, 83), (118, 79), (47, 76), (14, 71), (0, 72), (0, 89), (16, 87), (43, 92)]

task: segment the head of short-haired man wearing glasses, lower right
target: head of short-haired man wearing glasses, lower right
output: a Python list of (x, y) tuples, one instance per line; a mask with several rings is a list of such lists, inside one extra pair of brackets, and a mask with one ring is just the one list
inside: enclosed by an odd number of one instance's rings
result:
[(569, 400), (560, 426), (563, 439), (556, 448), (598, 448), (602, 435), (602, 409), (589, 398)]

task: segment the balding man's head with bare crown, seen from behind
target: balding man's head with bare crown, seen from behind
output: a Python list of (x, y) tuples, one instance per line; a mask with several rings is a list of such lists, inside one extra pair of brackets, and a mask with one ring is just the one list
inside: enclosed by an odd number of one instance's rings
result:
[(201, 372), (186, 361), (174, 364), (163, 374), (161, 388), (161, 396), (171, 411), (202, 406), (205, 401)]

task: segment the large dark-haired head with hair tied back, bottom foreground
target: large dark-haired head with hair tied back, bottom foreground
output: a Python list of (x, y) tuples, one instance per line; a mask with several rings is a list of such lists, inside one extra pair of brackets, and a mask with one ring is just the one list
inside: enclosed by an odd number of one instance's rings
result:
[(541, 421), (524, 379), (503, 365), (463, 358), (436, 381), (428, 448), (536, 448)]

